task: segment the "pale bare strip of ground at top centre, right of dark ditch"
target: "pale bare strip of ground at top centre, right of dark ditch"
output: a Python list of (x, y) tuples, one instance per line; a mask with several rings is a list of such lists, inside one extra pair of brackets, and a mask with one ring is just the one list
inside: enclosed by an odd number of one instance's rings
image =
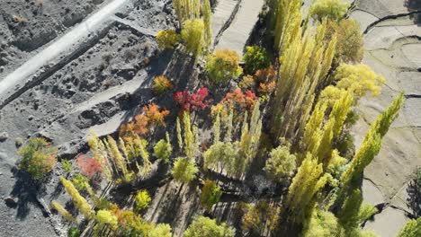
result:
[(263, 5), (264, 0), (243, 0), (236, 18), (224, 31), (216, 48), (236, 50), (238, 55), (242, 56)]

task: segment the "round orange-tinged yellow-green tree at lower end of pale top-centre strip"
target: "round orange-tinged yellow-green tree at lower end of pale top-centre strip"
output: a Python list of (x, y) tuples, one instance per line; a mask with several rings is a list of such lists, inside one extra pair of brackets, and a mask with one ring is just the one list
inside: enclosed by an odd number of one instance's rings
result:
[(205, 68), (213, 83), (221, 83), (241, 75), (242, 68), (238, 64), (237, 52), (223, 49), (216, 50), (215, 54), (209, 56)]

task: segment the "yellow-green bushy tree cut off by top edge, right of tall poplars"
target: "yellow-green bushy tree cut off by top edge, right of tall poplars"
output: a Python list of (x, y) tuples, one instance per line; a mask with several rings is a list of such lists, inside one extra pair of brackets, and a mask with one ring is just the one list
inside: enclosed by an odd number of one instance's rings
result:
[(319, 21), (324, 18), (339, 21), (344, 18), (349, 6), (341, 0), (318, 0), (311, 5), (309, 14)]

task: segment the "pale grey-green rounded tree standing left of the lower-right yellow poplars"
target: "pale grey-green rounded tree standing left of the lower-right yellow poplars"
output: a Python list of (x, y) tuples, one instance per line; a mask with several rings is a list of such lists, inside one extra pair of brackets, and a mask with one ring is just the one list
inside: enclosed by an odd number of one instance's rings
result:
[(273, 149), (269, 159), (266, 161), (264, 171), (274, 181), (281, 181), (292, 176), (296, 168), (296, 156), (290, 154), (288, 146), (278, 146)]

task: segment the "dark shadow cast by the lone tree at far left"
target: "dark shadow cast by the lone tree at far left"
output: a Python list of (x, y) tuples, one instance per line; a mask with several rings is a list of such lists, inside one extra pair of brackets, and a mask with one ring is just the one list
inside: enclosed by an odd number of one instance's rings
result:
[[(31, 212), (30, 204), (40, 207), (43, 215), (46, 215), (37, 199), (37, 196), (44, 191), (41, 185), (42, 180), (33, 180), (29, 173), (20, 171), (15, 167), (13, 167), (12, 172), (16, 182), (10, 196), (14, 201), (8, 202), (6, 205), (17, 209), (16, 218), (24, 220)], [(44, 179), (48, 179), (48, 177)]]

